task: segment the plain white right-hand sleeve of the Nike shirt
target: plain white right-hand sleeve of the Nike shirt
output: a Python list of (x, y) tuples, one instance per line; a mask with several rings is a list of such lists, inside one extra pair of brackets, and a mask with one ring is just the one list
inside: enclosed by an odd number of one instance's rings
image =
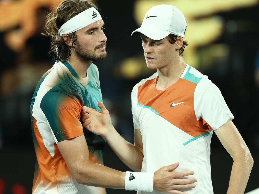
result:
[(213, 130), (234, 118), (219, 88), (207, 78), (197, 84), (193, 103), (197, 120), (203, 118)]

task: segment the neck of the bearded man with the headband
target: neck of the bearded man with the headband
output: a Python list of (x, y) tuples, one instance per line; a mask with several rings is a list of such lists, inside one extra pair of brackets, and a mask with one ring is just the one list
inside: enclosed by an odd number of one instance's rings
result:
[(76, 57), (72, 54), (68, 57), (67, 62), (75, 70), (78, 76), (85, 78), (87, 76), (87, 70), (93, 61), (84, 61), (82, 58)]

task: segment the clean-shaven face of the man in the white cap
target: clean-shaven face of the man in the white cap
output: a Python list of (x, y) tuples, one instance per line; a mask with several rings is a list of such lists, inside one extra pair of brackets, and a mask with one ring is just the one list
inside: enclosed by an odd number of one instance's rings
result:
[[(144, 56), (149, 69), (158, 69), (169, 65), (176, 57), (175, 44), (171, 44), (168, 38), (153, 40), (141, 34)], [(178, 52), (179, 55), (179, 52)]]

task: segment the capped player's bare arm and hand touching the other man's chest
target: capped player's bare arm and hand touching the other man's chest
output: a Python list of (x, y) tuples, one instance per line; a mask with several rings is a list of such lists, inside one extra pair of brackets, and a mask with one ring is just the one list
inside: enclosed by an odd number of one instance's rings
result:
[[(135, 129), (135, 144), (131, 144), (130, 142), (126, 141), (123, 137), (121, 137), (120, 134), (116, 131), (116, 129), (114, 129), (114, 127), (112, 126), (109, 111), (105, 108), (105, 106), (100, 102), (98, 102), (98, 106), (102, 110), (101, 114), (98, 114), (99, 112), (97, 112), (94, 109), (83, 107), (83, 111), (81, 113), (81, 120), (84, 122), (83, 126), (87, 128), (89, 131), (95, 133), (96, 135), (102, 136), (110, 145), (112, 150), (116, 153), (116, 155), (121, 159), (121, 161), (125, 163), (125, 165), (127, 165), (135, 172), (140, 172), (143, 161), (143, 143), (140, 130)], [(97, 113), (96, 115), (90, 116), (92, 122), (91, 124), (89, 120), (89, 114), (86, 114), (87, 111), (89, 113), (90, 110), (93, 110), (92, 114)], [(102, 123), (100, 123), (99, 120)]]

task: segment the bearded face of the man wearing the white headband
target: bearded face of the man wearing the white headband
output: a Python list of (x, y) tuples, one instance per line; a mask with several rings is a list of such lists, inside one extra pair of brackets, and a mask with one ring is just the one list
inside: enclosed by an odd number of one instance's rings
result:
[(83, 60), (98, 61), (106, 58), (106, 36), (103, 20), (96, 21), (76, 32), (74, 53)]

